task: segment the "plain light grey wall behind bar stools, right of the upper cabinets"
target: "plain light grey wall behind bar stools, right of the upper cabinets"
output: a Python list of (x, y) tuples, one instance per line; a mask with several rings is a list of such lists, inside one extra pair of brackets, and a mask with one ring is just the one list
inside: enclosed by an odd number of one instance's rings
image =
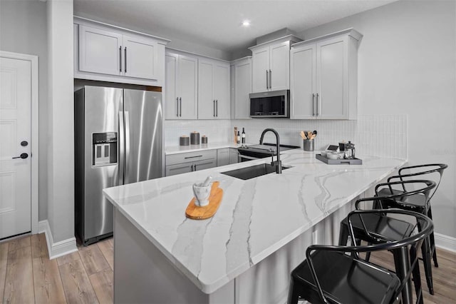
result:
[(447, 163), (432, 198), (438, 233), (456, 237), (455, 1), (398, 1), (309, 29), (311, 39), (353, 27), (363, 34), (358, 61), (361, 115), (408, 116), (408, 160)]

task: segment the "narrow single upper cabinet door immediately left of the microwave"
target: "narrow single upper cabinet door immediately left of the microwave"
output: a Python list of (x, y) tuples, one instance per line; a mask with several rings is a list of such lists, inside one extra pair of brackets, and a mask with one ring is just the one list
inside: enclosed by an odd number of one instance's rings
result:
[(252, 61), (234, 66), (234, 118), (250, 118), (249, 93), (252, 91)]

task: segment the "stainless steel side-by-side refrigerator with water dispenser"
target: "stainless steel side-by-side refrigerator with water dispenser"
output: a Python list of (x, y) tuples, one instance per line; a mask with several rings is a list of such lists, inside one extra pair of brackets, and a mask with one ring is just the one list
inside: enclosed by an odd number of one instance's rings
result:
[(162, 94), (84, 86), (75, 102), (75, 228), (84, 245), (113, 235), (103, 188), (162, 176)]

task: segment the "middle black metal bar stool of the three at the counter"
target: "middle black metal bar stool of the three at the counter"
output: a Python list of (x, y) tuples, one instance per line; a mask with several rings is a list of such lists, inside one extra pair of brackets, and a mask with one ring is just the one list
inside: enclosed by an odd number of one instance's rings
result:
[[(381, 205), (383, 201), (395, 201), (397, 199), (404, 199), (408, 196), (417, 196), (422, 195), (427, 198), (430, 195), (430, 192), (435, 188), (435, 182), (433, 181), (396, 181), (391, 183), (380, 183), (375, 186), (375, 193), (379, 193), (380, 189), (383, 187), (390, 188), (393, 186), (400, 186), (408, 188), (413, 187), (415, 190), (408, 192), (401, 192), (398, 194), (390, 194), (389, 196), (375, 196), (373, 198), (361, 198), (355, 203), (355, 208), (360, 209), (360, 204), (362, 202), (373, 202), (373, 205)], [(422, 213), (423, 214), (423, 213)], [(420, 223), (418, 223), (418, 230), (420, 230)], [(378, 214), (371, 214), (368, 216), (363, 216), (363, 218), (358, 217), (353, 219), (353, 230), (355, 232), (356, 240), (365, 240), (368, 243), (385, 243), (394, 240), (400, 240), (410, 236), (415, 230), (415, 226), (411, 225), (406, 221), (401, 221), (397, 218), (389, 218), (386, 216), (378, 216)], [(365, 233), (368, 231), (368, 233)], [(341, 221), (341, 230), (339, 233), (339, 245), (346, 245), (348, 241), (348, 218), (345, 218)], [(430, 269), (430, 250), (428, 250), (427, 239), (423, 242), (421, 246), (421, 252), (423, 254), (424, 265), (425, 265), (425, 277), (427, 286), (432, 290), (432, 269)], [(410, 252), (411, 255), (416, 253)], [(366, 254), (366, 260), (369, 260), (370, 254)], [(396, 260), (396, 256), (394, 256)], [(398, 269), (396, 269), (398, 271)], [(417, 302), (423, 303), (423, 298), (421, 296), (421, 284), (419, 286), (417, 283), (420, 282), (419, 272), (417, 273), (418, 277), (414, 275), (415, 282), (415, 291), (417, 295)]]

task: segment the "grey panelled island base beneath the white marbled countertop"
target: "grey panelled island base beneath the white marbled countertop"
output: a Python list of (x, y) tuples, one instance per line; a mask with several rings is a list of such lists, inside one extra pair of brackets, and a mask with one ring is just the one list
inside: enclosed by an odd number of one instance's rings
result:
[(115, 208), (114, 303), (286, 303), (291, 270), (305, 259), (306, 248), (337, 243), (339, 223), (351, 210), (347, 203), (206, 294)]

